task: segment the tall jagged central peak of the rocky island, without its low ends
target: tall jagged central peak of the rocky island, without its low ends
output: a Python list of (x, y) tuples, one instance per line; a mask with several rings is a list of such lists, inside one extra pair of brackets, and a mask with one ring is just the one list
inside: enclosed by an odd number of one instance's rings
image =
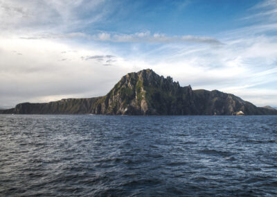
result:
[(193, 90), (147, 69), (123, 76), (96, 114), (193, 114)]

